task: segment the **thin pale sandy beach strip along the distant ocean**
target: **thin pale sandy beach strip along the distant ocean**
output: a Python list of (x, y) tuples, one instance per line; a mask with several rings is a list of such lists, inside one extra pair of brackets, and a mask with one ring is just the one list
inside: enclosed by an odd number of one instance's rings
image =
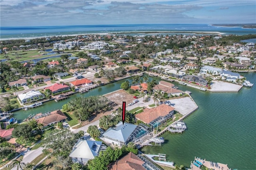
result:
[(26, 38), (1, 38), (2, 41), (5, 40), (32, 40), (37, 38), (50, 38), (50, 37), (60, 37), (60, 36), (82, 36), (82, 35), (110, 35), (110, 34), (153, 34), (153, 33), (192, 33), (192, 34), (225, 34), (221, 32), (202, 32), (202, 31), (129, 31), (129, 32), (108, 32), (108, 33), (88, 33), (88, 34), (71, 34), (71, 35), (58, 35), (58, 36), (38, 36), (38, 37), (26, 37)]

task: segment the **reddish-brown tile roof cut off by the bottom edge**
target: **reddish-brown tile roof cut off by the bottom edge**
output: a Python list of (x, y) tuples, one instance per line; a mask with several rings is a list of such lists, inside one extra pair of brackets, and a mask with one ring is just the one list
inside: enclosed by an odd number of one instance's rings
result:
[(144, 163), (138, 156), (130, 152), (120, 160), (112, 163), (109, 170), (145, 170), (142, 166)]

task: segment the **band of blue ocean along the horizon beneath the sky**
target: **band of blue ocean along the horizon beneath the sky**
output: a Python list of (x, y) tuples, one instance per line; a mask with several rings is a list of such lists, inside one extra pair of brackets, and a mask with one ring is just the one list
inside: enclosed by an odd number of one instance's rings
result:
[[(52, 36), (86, 34), (255, 34), (255, 29), (242, 27), (212, 26), (211, 24), (109, 24), (75, 26), (18, 26), (0, 27), (0, 39), (34, 39)], [(146, 33), (144, 33), (146, 32)]]

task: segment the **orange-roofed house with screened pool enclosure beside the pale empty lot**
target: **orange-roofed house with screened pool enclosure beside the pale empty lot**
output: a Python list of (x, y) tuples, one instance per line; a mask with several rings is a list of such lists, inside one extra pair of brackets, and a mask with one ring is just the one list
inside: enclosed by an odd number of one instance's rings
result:
[(146, 108), (143, 112), (136, 114), (135, 117), (151, 127), (157, 127), (171, 119), (173, 114), (173, 107), (162, 104), (155, 108)]

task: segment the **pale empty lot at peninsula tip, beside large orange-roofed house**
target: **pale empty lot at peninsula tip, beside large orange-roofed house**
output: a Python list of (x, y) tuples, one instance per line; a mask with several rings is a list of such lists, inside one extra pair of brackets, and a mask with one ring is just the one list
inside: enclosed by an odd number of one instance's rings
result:
[(180, 112), (182, 115), (186, 115), (194, 111), (198, 106), (190, 97), (182, 97), (179, 99), (170, 99), (172, 107), (175, 108), (175, 111)]

